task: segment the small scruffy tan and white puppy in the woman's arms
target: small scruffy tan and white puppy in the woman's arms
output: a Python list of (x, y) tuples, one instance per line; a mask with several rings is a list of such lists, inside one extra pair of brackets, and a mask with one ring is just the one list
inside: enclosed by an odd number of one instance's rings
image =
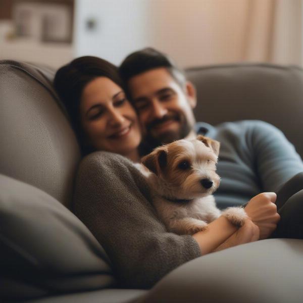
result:
[(153, 192), (153, 204), (169, 231), (194, 234), (225, 216), (242, 226), (247, 215), (242, 208), (221, 212), (212, 193), (220, 184), (216, 173), (220, 143), (205, 136), (182, 139), (154, 149), (136, 167)]

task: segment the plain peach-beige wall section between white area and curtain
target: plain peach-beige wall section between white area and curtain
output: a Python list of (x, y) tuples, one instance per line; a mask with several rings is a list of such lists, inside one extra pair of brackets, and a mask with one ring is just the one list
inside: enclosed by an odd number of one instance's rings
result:
[(245, 0), (153, 1), (154, 45), (182, 66), (239, 61)]

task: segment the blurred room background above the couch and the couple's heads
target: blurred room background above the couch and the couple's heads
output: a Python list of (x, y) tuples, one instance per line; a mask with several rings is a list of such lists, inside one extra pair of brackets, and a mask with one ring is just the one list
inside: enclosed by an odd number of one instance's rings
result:
[(302, 0), (0, 0), (0, 59), (118, 65), (153, 46), (181, 67), (303, 65)]

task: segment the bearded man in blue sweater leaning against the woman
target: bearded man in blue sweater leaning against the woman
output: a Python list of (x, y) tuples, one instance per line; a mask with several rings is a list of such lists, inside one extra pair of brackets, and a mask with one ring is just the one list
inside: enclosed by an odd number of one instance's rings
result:
[[(218, 174), (222, 181), (215, 193), (219, 207), (243, 205), (262, 191), (276, 192), (303, 171), (303, 163), (293, 146), (270, 124), (261, 121), (224, 123), (217, 127), (196, 124), (192, 112), (196, 105), (194, 86), (168, 56), (156, 49), (145, 48), (129, 55), (121, 64), (120, 73), (138, 112), (145, 137), (143, 153), (197, 133), (221, 142)], [(299, 174), (278, 195), (277, 207), (283, 218), (276, 236), (302, 237), (301, 225), (287, 231), (282, 228), (298, 213), (300, 198), (290, 197), (302, 188), (303, 175)]]

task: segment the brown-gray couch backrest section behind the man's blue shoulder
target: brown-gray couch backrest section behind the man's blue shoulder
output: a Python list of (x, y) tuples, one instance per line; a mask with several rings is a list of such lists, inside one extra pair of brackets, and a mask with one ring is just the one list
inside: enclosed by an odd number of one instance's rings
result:
[(229, 64), (187, 70), (197, 89), (197, 121), (216, 125), (258, 119), (283, 131), (303, 158), (303, 70), (272, 64)]

